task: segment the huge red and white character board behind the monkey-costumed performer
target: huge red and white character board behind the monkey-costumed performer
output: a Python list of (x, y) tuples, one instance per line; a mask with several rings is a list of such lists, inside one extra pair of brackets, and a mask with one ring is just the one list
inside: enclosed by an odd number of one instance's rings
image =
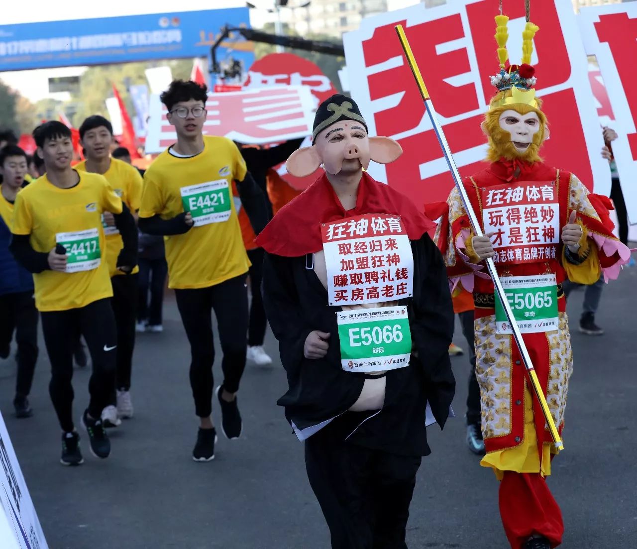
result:
[[(522, 57), (524, 3), (508, 3), (510, 62)], [(402, 24), (462, 175), (484, 164), (486, 138), (480, 122), (494, 94), (489, 76), (498, 62), (495, 0), (456, 0), (426, 9), (422, 4), (364, 19), (343, 37), (352, 97), (372, 135), (396, 139), (403, 156), (370, 173), (417, 203), (447, 198), (452, 178), (426, 115), (419, 90), (394, 31)], [(547, 0), (533, 11), (540, 27), (532, 63), (538, 96), (551, 126), (542, 149), (546, 162), (572, 171), (596, 192), (610, 191), (601, 128), (587, 75), (587, 58), (570, 0)]]

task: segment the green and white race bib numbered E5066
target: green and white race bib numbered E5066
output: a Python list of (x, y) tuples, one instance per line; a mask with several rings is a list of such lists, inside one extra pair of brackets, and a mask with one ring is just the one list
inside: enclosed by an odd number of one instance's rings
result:
[(341, 366), (347, 372), (376, 372), (409, 366), (412, 332), (406, 307), (339, 311)]

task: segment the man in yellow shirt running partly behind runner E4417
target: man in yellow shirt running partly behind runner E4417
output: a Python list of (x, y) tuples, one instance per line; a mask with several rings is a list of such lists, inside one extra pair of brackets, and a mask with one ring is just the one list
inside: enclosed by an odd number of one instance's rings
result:
[[(110, 146), (113, 142), (113, 126), (106, 118), (93, 115), (80, 126), (80, 145), (86, 152), (86, 160), (76, 164), (75, 169), (100, 173), (111, 184), (115, 194), (137, 215), (141, 201), (141, 175), (137, 168), (123, 160), (111, 158)], [(117, 427), (120, 418), (131, 418), (132, 352), (135, 346), (135, 326), (137, 321), (139, 267), (131, 273), (117, 268), (117, 257), (124, 247), (122, 235), (115, 226), (115, 217), (108, 211), (103, 213), (103, 227), (106, 235), (106, 262), (113, 285), (113, 313), (117, 324), (117, 369), (115, 389), (111, 401), (102, 412), (106, 427)]]

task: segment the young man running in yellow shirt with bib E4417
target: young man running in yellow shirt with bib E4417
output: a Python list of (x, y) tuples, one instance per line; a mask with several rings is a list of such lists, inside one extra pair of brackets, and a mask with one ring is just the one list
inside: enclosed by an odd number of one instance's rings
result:
[(36, 307), (51, 362), (49, 391), (62, 427), (63, 465), (83, 462), (73, 425), (73, 349), (78, 334), (89, 346), (93, 373), (90, 401), (82, 415), (96, 457), (110, 454), (101, 420), (115, 387), (117, 333), (102, 214), (109, 211), (124, 247), (117, 268), (130, 273), (137, 262), (134, 218), (108, 181), (71, 168), (71, 131), (61, 122), (45, 122), (33, 137), (47, 168), (45, 175), (20, 191), (13, 211), (11, 252), (33, 274)]

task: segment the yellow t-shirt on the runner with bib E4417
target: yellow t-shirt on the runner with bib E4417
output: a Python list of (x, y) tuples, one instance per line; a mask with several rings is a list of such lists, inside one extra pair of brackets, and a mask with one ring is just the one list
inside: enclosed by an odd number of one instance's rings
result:
[(33, 275), (40, 311), (66, 311), (113, 295), (101, 215), (103, 211), (122, 213), (122, 200), (104, 176), (78, 175), (75, 187), (60, 189), (45, 174), (15, 199), (11, 232), (30, 234), (36, 252), (50, 252), (56, 243), (63, 244), (69, 269), (78, 269), (66, 273), (47, 269)]

